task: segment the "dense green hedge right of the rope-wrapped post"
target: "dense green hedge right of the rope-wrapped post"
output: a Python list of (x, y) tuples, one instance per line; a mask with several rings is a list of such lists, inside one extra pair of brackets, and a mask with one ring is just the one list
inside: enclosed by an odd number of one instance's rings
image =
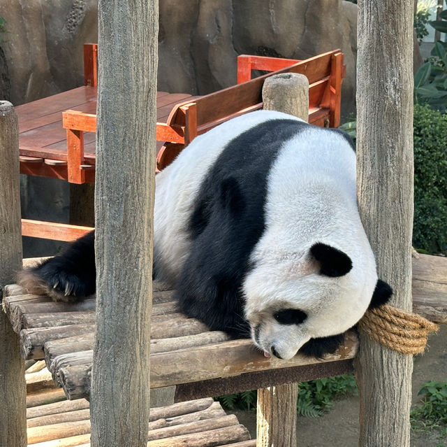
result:
[(414, 106), (413, 246), (447, 250), (447, 115)]

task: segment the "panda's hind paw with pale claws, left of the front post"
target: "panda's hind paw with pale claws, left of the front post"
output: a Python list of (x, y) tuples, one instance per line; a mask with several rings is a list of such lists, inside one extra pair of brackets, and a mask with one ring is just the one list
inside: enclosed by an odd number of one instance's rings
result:
[(17, 283), (29, 293), (73, 302), (94, 294), (95, 276), (63, 257), (53, 257), (38, 267), (20, 272)]

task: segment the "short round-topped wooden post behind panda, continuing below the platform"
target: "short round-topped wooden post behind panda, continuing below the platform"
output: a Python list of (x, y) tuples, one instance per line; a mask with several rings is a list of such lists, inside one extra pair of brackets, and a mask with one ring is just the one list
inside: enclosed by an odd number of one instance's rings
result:
[[(263, 108), (309, 118), (309, 81), (306, 76), (284, 73), (263, 85)], [(257, 447), (295, 447), (298, 385), (271, 386), (258, 390), (256, 409)]]

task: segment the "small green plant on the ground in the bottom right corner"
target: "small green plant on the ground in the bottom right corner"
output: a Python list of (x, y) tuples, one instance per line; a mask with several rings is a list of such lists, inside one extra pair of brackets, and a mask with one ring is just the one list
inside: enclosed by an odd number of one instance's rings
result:
[[(413, 407), (410, 412), (411, 429), (425, 432), (439, 429), (440, 436), (447, 437), (447, 379), (442, 382), (425, 382), (419, 395), (423, 395), (422, 405)], [(446, 446), (444, 443), (437, 444)]]

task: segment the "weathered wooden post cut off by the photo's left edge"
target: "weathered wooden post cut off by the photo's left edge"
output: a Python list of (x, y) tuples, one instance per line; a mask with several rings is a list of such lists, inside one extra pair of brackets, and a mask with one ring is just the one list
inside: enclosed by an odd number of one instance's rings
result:
[[(13, 104), (0, 101), (0, 301), (22, 268), (19, 130)], [(19, 337), (0, 308), (0, 447), (27, 445), (24, 361)]]

